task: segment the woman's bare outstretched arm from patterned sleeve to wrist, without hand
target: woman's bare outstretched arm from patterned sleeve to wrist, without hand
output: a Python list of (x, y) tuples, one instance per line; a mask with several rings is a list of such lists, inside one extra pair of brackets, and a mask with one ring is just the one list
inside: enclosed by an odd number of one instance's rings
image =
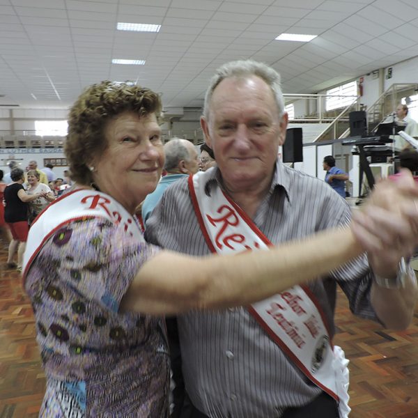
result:
[(361, 252), (348, 228), (229, 256), (161, 251), (139, 270), (121, 309), (157, 315), (250, 304), (316, 279)]

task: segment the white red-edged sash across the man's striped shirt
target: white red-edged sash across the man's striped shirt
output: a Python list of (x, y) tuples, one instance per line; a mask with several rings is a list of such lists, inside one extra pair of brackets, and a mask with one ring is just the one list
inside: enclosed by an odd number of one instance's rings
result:
[[(229, 254), (268, 249), (272, 243), (219, 186), (205, 192), (205, 173), (189, 178), (196, 216), (212, 252)], [(348, 360), (332, 348), (325, 316), (305, 286), (294, 286), (252, 304), (249, 313), (295, 365), (318, 387), (339, 402), (341, 418), (348, 417)]]

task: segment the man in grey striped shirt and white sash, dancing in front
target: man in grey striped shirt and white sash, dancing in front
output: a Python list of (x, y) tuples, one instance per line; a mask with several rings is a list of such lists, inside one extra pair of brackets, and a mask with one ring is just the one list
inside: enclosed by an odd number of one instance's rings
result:
[[(255, 61), (222, 65), (201, 118), (217, 167), (167, 190), (148, 219), (148, 240), (188, 254), (233, 254), (346, 225), (350, 209), (331, 187), (277, 160), (287, 122), (276, 71)], [(346, 363), (331, 343), (336, 284), (355, 314), (392, 328), (410, 323), (417, 298), (413, 270), (398, 268), (418, 243), (416, 227), (394, 225), (417, 208), (411, 199), (408, 209), (389, 210), (357, 215), (368, 254), (329, 277), (250, 307), (178, 316), (192, 417), (348, 415)]]

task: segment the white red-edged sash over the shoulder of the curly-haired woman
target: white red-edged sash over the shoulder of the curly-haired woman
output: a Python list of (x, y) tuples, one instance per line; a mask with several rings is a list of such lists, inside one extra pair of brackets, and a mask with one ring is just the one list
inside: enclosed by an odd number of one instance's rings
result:
[(33, 259), (52, 234), (69, 222), (91, 217), (102, 217), (114, 224), (121, 224), (125, 233), (134, 236), (139, 242), (145, 242), (137, 219), (121, 203), (102, 192), (77, 189), (56, 199), (33, 222), (23, 257), (23, 277), (26, 277)]

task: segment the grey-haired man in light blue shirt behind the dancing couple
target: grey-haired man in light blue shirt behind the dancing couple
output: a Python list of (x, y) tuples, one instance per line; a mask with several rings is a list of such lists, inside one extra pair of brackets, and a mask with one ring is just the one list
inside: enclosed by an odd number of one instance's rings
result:
[(162, 177), (153, 193), (148, 194), (142, 205), (142, 220), (144, 224), (160, 201), (164, 190), (180, 178), (188, 177), (199, 170), (197, 155), (194, 145), (187, 139), (173, 138), (164, 145), (164, 171), (167, 175)]

